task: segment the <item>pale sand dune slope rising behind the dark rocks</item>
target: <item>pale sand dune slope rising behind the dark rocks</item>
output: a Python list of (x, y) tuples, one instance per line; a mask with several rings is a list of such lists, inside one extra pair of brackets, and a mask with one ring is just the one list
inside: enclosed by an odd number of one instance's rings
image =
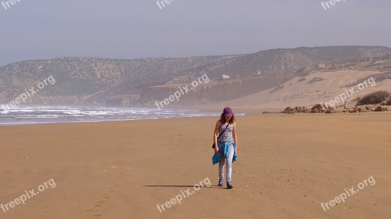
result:
[[(253, 108), (285, 108), (286, 106), (313, 105), (334, 99), (338, 95), (344, 93), (345, 89), (350, 89), (350, 87), (341, 88), (342, 86), (372, 74), (381, 74), (381, 72), (337, 71), (313, 73), (304, 77), (306, 78), (304, 81), (299, 82), (302, 77), (296, 77), (286, 81), (282, 84), (283, 88), (276, 92), (270, 93), (274, 89), (272, 88), (239, 99), (223, 101), (222, 103), (219, 103), (219, 105)], [(314, 78), (323, 78), (324, 80), (308, 84), (308, 81)], [(373, 87), (368, 84), (368, 87), (360, 90), (359, 93), (354, 94), (348, 98), (347, 101), (354, 100), (359, 96), (373, 91), (384, 89), (391, 89), (391, 80), (376, 82), (376, 85)]]

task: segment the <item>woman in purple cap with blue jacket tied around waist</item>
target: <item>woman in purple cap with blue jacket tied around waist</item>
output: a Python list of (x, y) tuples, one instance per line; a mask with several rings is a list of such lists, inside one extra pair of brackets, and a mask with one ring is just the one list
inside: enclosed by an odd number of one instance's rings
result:
[[(217, 137), (218, 133), (218, 137)], [(216, 123), (215, 132), (213, 135), (215, 142), (215, 153), (220, 153), (221, 158), (218, 162), (218, 186), (224, 186), (224, 163), (226, 166), (226, 182), (227, 188), (231, 189), (232, 185), (232, 162), (236, 160), (238, 151), (238, 139), (236, 135), (235, 115), (232, 109), (225, 107), (220, 119)], [(235, 156), (234, 156), (235, 155)]]

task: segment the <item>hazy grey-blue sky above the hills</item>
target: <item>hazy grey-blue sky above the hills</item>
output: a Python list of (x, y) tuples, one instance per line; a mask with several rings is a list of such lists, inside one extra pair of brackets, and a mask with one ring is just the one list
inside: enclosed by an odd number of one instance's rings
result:
[(391, 47), (391, 0), (341, 0), (327, 10), (322, 0), (174, 0), (162, 9), (156, 0), (20, 0), (9, 8), (6, 1), (0, 5), (0, 66), (56, 57)]

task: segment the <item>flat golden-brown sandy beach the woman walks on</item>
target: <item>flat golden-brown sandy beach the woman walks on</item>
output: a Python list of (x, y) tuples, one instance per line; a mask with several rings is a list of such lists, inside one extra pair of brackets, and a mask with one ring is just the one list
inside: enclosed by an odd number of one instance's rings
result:
[[(0, 203), (50, 179), (56, 184), (0, 209), (0, 218), (390, 217), (391, 113), (262, 112), (237, 117), (231, 190), (217, 186), (211, 160), (217, 117), (0, 127)], [(373, 185), (322, 208), (369, 177)], [(205, 179), (212, 185), (195, 191)], [(157, 204), (185, 190), (191, 195), (159, 211)]]

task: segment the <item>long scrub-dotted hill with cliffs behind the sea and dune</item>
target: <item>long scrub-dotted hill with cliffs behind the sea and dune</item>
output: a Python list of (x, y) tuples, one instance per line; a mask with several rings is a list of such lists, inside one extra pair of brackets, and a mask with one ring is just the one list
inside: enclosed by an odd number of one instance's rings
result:
[[(207, 74), (211, 83), (207, 87), (200, 86), (198, 92), (194, 92), (192, 97), (189, 96), (189, 99), (178, 103), (179, 105), (202, 104), (237, 99), (271, 89), (288, 80), (319, 71), (318, 68), (314, 68), (318, 64), (346, 62), (346, 65), (352, 68), (357, 63), (353, 60), (375, 59), (385, 55), (391, 55), (391, 48), (326, 46), (178, 59), (25, 60), (0, 68), (0, 102), (7, 103), (15, 100), (26, 88), (37, 86), (43, 79), (53, 76), (56, 84), (46, 87), (27, 99), (27, 103), (105, 104), (107, 100), (113, 100), (119, 105), (124, 105), (124, 102), (125, 105), (151, 105), (154, 100), (167, 98), (167, 94), (170, 94), (174, 87), (177, 88), (177, 84), (190, 83), (201, 75)], [(351, 62), (347, 62), (349, 60)], [(336, 68), (349, 67), (336, 64), (327, 66), (329, 66), (327, 70), (332, 71)], [(376, 66), (362, 65), (360, 68), (373, 71)], [(384, 71), (379, 72), (385, 72), (387, 68), (382, 70)], [(221, 75), (229, 75), (230, 79), (222, 80)], [(231, 88), (227, 89), (230, 86)], [(235, 89), (232, 89), (232, 86), (235, 86)], [(224, 97), (220, 95), (227, 92), (228, 95)]]

